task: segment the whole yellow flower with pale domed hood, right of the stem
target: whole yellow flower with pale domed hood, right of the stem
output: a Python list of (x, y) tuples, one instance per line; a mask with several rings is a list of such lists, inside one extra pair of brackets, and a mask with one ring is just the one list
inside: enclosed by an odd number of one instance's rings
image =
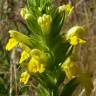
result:
[(78, 44), (85, 44), (86, 41), (83, 40), (83, 35), (85, 34), (85, 30), (81, 26), (72, 27), (66, 34), (66, 40), (73, 46)]

